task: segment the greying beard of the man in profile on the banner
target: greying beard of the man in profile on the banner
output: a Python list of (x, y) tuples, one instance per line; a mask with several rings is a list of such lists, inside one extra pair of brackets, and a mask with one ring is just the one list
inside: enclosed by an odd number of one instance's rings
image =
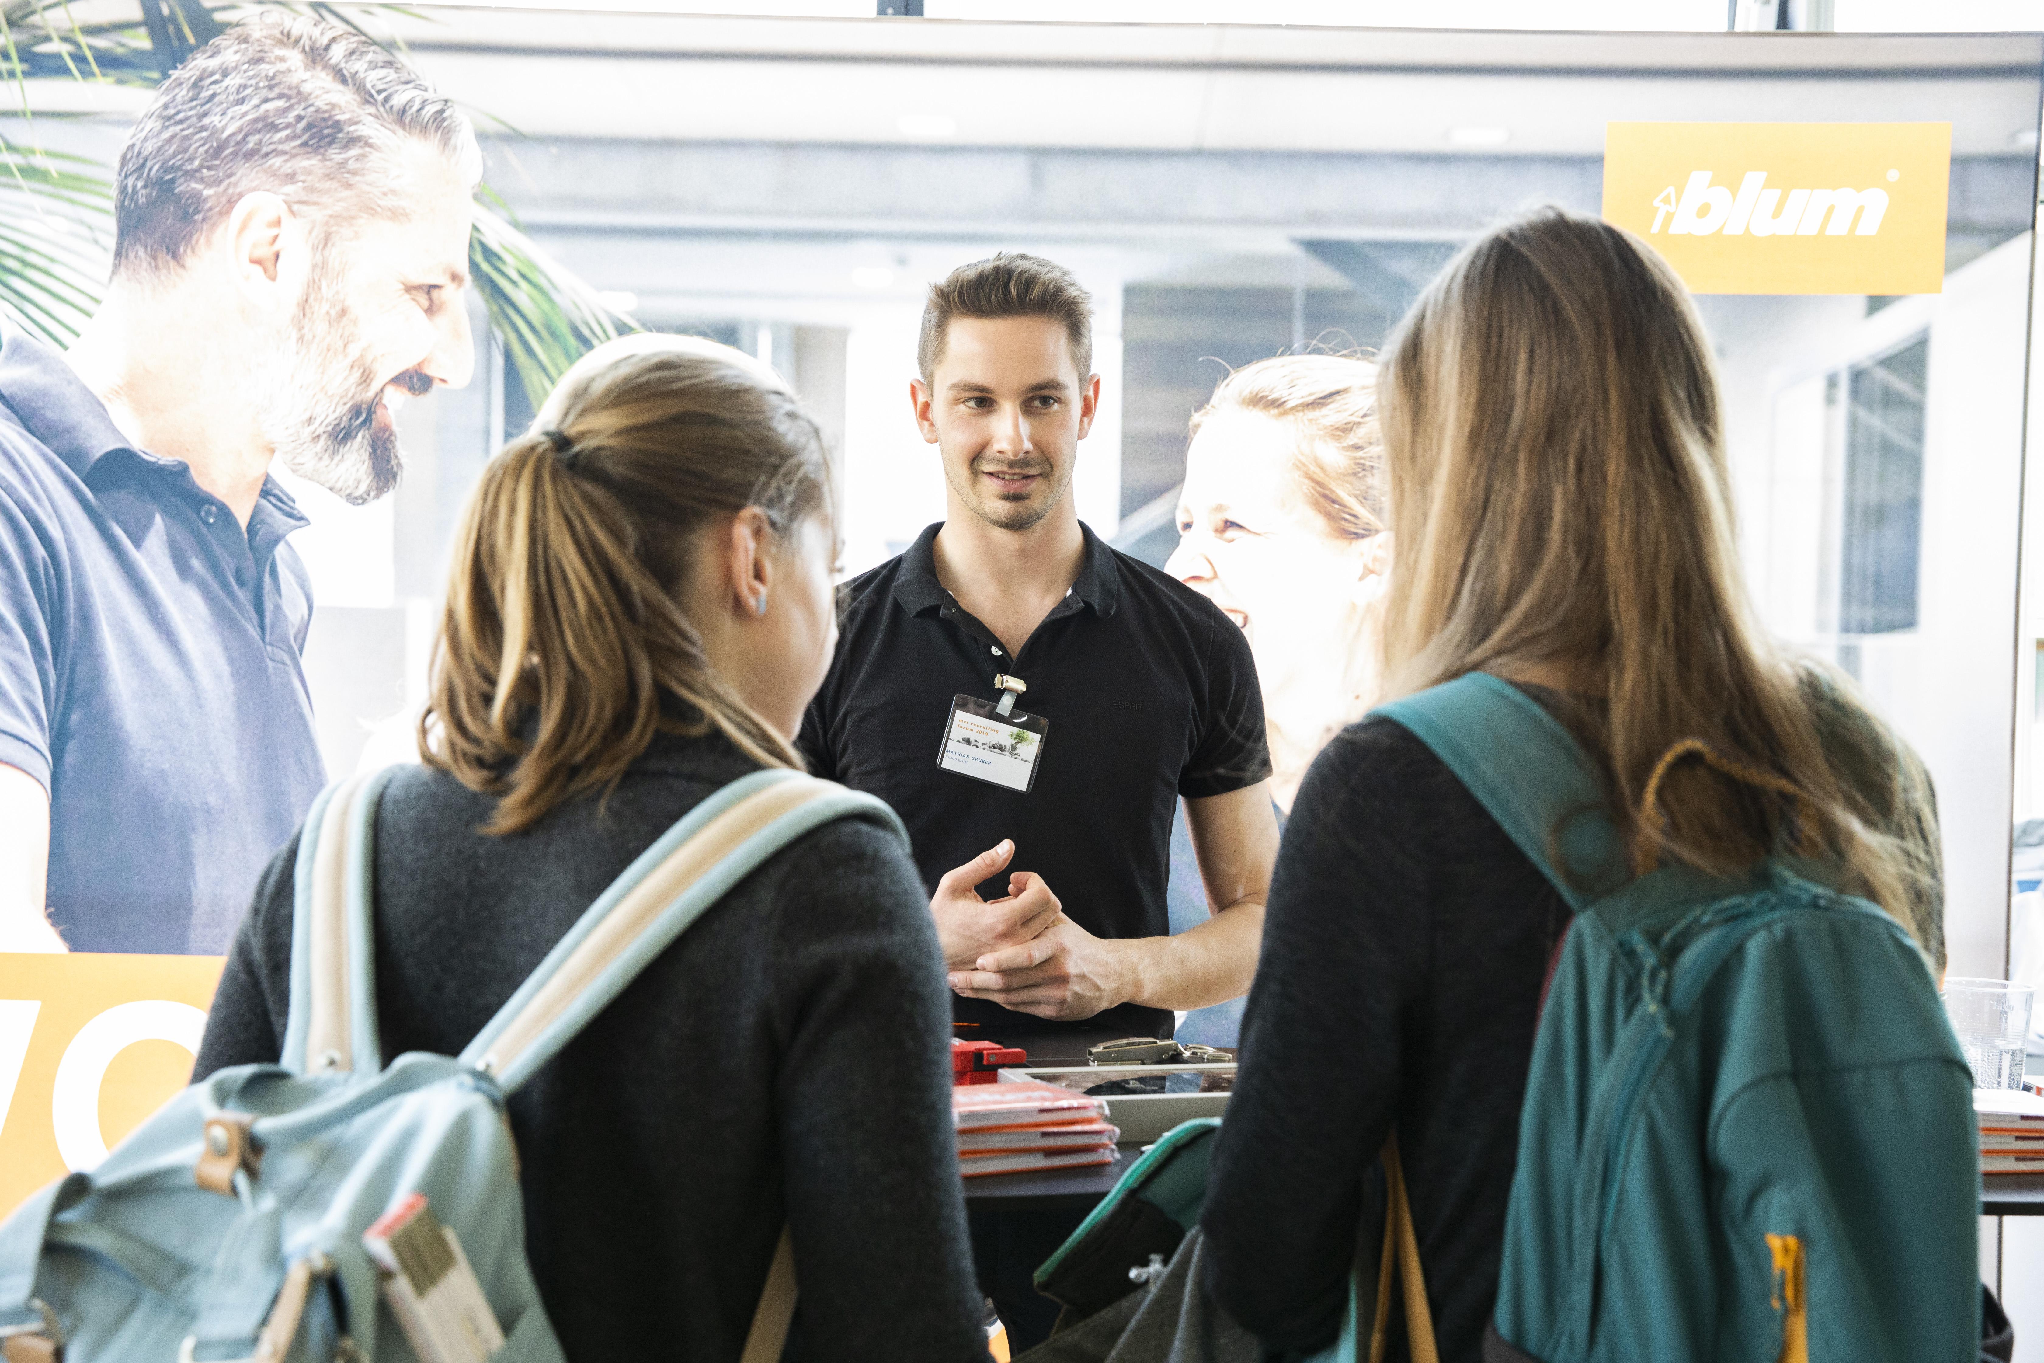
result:
[[(284, 468), (362, 507), (397, 486), (405, 456), (394, 429), (376, 429), (384, 384), (362, 351), (362, 329), (335, 276), (327, 260), (315, 264), (286, 354), (272, 366), (264, 429)], [(417, 370), (397, 382), (413, 394), (431, 390)]]

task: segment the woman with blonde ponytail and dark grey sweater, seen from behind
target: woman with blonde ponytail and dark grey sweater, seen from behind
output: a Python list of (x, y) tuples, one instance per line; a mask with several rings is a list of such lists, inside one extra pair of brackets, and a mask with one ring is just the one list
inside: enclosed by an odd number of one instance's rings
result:
[[(748, 356), (599, 347), (482, 474), (419, 725), (376, 813), (384, 1052), (456, 1054), (583, 909), (791, 738), (836, 644), (816, 423)], [(276, 1061), (286, 846), (198, 1075)], [(527, 1257), (572, 1359), (736, 1359), (781, 1226), (789, 1359), (979, 1359), (928, 897), (826, 824), (726, 893), (509, 1101)]]

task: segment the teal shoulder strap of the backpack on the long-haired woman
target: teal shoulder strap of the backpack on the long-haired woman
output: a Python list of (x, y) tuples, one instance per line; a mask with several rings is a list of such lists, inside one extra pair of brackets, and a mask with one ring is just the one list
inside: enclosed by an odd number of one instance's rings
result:
[(1533, 697), (1466, 672), (1374, 713), (1427, 744), (1570, 909), (1633, 879), (1596, 768)]

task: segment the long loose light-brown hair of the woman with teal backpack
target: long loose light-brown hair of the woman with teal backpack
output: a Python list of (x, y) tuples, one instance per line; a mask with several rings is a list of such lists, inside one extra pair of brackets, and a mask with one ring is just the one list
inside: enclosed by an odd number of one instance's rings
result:
[[(1809, 850), (1942, 962), (1921, 768), (1844, 678), (1752, 619), (1717, 374), (1668, 266), (1541, 210), (1466, 247), (1380, 370), (1390, 474), (1388, 695), (1472, 670), (1564, 674), (1639, 868), (1735, 875)], [(1684, 740), (1705, 762), (1664, 768)], [(1694, 752), (1694, 748), (1690, 748)], [(1641, 817), (1656, 772), (1658, 809)], [(1921, 842), (1921, 840), (1919, 840)]]

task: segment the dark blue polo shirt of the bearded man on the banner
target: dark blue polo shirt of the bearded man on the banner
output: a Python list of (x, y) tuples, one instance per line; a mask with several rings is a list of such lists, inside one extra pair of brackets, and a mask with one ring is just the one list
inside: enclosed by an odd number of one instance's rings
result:
[(49, 791), (72, 950), (225, 952), (319, 795), (300, 525), (264, 480), (243, 529), (63, 356), (0, 333), (0, 762)]

